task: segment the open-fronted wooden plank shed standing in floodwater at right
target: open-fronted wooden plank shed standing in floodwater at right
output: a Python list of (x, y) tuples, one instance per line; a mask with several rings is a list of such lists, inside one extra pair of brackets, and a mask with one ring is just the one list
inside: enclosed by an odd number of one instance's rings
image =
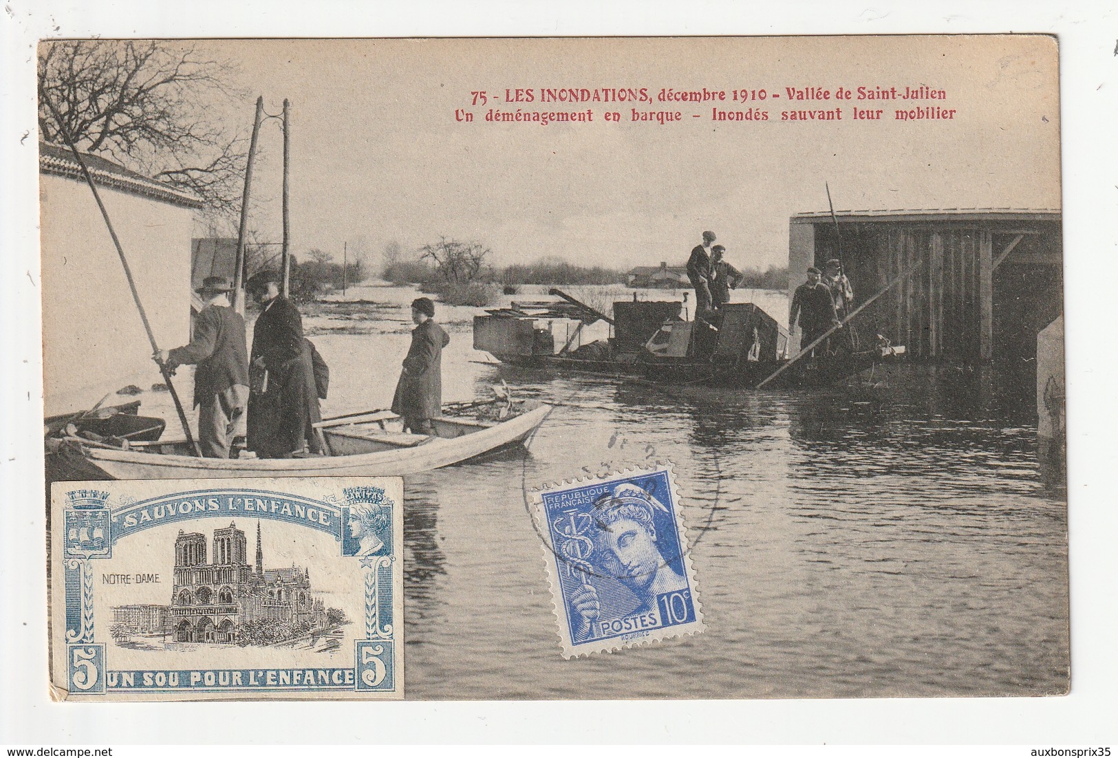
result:
[(842, 260), (855, 305), (912, 269), (858, 323), (913, 360), (1036, 358), (1036, 335), (1063, 313), (1059, 210), (843, 210), (792, 217), (792, 286), (808, 266)]

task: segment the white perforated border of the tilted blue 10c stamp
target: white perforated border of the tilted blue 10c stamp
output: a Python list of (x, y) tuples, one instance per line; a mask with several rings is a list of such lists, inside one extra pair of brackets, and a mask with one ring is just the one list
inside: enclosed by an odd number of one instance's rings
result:
[[(609, 482), (618, 479), (627, 479), (631, 476), (638, 476), (643, 473), (654, 473), (660, 470), (665, 470), (667, 472), (667, 481), (672, 487), (672, 498), (674, 499), (675, 505), (675, 528), (680, 533), (680, 541), (684, 546), (683, 550), (683, 569), (686, 572), (688, 582), (691, 586), (692, 599), (694, 601), (695, 609), (695, 620), (688, 624), (685, 627), (663, 627), (657, 629), (653, 634), (646, 637), (639, 637), (635, 639), (628, 639), (626, 642), (613, 642), (604, 641), (598, 646), (587, 645), (582, 648), (576, 648), (570, 641), (570, 636), (565, 627), (566, 614), (559, 608), (559, 601), (557, 599), (557, 587), (559, 585), (559, 577), (557, 575), (557, 566), (555, 561), (555, 548), (551, 543), (551, 532), (547, 529), (547, 520), (544, 518), (544, 506), (543, 506), (543, 493), (549, 490), (555, 490), (558, 487), (578, 486), (580, 484), (595, 484), (598, 482)], [(548, 588), (551, 590), (551, 612), (556, 619), (556, 631), (559, 636), (559, 647), (562, 652), (562, 656), (566, 660), (578, 658), (578, 657), (590, 657), (595, 654), (600, 653), (613, 653), (615, 651), (638, 647), (642, 645), (660, 644), (665, 639), (682, 638), (686, 636), (693, 636), (707, 629), (707, 625), (703, 623), (702, 615), (702, 603), (700, 600), (699, 581), (695, 578), (694, 566), (691, 562), (691, 542), (688, 539), (686, 527), (683, 522), (683, 508), (682, 500), (680, 498), (679, 486), (675, 483), (675, 467), (671, 461), (661, 463), (655, 462), (651, 466), (634, 466), (626, 467), (619, 471), (615, 471), (606, 476), (582, 476), (580, 479), (563, 480), (562, 482), (556, 482), (552, 484), (543, 484), (542, 486), (532, 490), (532, 518), (538, 520), (537, 527), (540, 528), (540, 533), (543, 534), (544, 539), (541, 540), (540, 552), (543, 557), (543, 565), (547, 571)], [(542, 524), (542, 525), (541, 525)], [(562, 595), (561, 591), (558, 593), (559, 596)]]

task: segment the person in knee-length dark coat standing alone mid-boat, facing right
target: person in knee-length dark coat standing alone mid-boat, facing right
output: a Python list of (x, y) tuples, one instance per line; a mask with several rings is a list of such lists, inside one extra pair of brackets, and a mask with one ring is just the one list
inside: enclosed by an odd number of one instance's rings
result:
[(435, 302), (416, 297), (411, 302), (411, 347), (392, 397), (392, 413), (404, 417), (411, 434), (434, 434), (430, 419), (443, 415), (443, 348), (449, 335), (435, 323)]

